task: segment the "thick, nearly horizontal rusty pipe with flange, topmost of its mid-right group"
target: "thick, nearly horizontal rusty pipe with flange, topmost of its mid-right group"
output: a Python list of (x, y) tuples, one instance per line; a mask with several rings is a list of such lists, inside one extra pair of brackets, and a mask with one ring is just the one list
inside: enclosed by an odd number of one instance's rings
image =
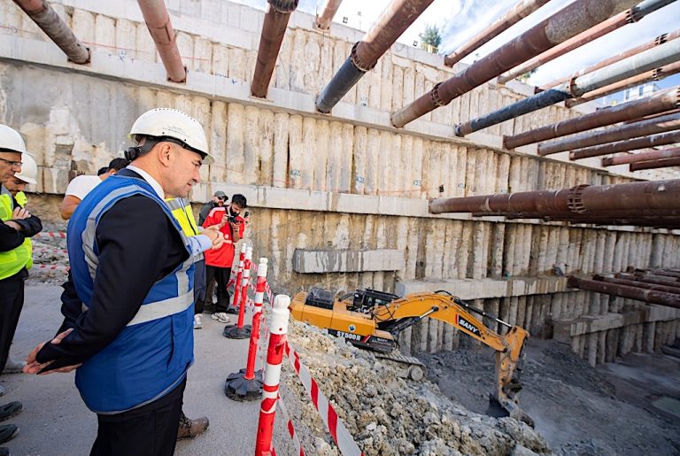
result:
[[(575, 213), (677, 209), (680, 179), (434, 199), (430, 213)], [(634, 213), (633, 213), (634, 215)]]

